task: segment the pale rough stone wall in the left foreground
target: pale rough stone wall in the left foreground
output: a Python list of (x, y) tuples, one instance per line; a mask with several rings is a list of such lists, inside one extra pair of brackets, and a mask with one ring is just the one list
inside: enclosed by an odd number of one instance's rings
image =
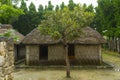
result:
[(14, 47), (13, 40), (0, 38), (0, 80), (13, 80)]

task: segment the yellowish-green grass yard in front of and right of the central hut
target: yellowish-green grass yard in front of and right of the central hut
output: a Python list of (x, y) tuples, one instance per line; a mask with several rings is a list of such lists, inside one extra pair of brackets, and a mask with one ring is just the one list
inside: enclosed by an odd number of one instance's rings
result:
[[(120, 68), (118, 54), (103, 51), (103, 59)], [(75, 69), (71, 70), (72, 78), (65, 78), (65, 70), (19, 69), (14, 73), (14, 80), (120, 80), (120, 72), (115, 69)]]

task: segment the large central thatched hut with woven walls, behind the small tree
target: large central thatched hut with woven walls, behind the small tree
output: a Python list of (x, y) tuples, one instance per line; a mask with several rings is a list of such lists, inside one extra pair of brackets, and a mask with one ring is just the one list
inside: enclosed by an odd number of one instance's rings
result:
[[(82, 29), (83, 35), (69, 42), (68, 55), (74, 64), (100, 64), (101, 44), (105, 39), (90, 27)], [(60, 64), (64, 62), (64, 48), (60, 40), (40, 34), (38, 28), (31, 31), (23, 40), (26, 45), (26, 64)], [(47, 64), (48, 64), (47, 63)]]

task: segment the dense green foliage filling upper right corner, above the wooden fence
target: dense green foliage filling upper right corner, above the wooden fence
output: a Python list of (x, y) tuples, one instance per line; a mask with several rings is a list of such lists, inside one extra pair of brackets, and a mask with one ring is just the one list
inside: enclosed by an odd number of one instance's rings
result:
[(120, 0), (98, 0), (95, 28), (108, 37), (120, 37)]

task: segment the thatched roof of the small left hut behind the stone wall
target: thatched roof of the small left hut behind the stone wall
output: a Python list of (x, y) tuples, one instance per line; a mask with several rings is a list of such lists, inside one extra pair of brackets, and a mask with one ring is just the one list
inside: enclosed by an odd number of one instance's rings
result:
[(18, 31), (14, 30), (12, 25), (9, 25), (9, 24), (0, 25), (0, 34), (3, 34), (11, 29), (13, 30), (14, 35), (17, 36), (19, 39), (17, 41), (14, 41), (14, 44), (19, 44), (25, 37)]

